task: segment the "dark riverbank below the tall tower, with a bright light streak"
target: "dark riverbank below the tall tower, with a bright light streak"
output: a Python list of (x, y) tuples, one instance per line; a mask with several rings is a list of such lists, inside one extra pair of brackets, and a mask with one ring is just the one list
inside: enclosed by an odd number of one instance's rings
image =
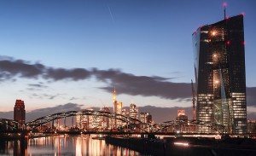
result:
[(247, 138), (215, 140), (202, 137), (176, 137), (163, 140), (106, 137), (106, 143), (150, 155), (256, 155), (256, 141)]

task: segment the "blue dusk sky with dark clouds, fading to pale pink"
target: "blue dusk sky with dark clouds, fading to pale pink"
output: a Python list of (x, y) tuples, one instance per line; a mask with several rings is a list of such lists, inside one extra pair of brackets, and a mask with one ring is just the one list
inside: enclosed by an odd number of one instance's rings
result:
[[(256, 1), (245, 14), (247, 110), (256, 113)], [(223, 0), (0, 1), (0, 112), (76, 103), (191, 107), (192, 33), (224, 19)], [(61, 112), (61, 110), (60, 110)]]

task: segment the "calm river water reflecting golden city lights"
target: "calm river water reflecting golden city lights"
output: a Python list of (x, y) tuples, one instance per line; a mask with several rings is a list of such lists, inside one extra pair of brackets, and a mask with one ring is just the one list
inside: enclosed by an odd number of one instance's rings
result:
[(26, 141), (0, 141), (2, 156), (142, 156), (125, 147), (106, 144), (92, 136), (46, 136)]

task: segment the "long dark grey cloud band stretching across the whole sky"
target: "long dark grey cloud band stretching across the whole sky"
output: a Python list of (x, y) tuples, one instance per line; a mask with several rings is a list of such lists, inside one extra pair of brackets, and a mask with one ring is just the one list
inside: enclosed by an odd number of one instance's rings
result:
[[(40, 63), (15, 60), (8, 56), (0, 56), (0, 78), (44, 78), (47, 81), (71, 80), (79, 81), (91, 77), (107, 84), (107, 87), (100, 88), (111, 92), (113, 86), (126, 95), (158, 96), (172, 100), (188, 100), (191, 98), (190, 83), (173, 83), (172, 78), (136, 76), (131, 73), (121, 72), (117, 69), (99, 70), (92, 68), (54, 68), (44, 66)], [(43, 84), (29, 84), (30, 87), (44, 88)], [(256, 106), (256, 87), (247, 88), (247, 105)], [(55, 96), (49, 98), (54, 99)]]

